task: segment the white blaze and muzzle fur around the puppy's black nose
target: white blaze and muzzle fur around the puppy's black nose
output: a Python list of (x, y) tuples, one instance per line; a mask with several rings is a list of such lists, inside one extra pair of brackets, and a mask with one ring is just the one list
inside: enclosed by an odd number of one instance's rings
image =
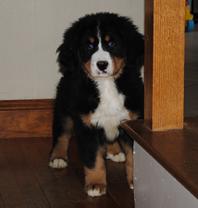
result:
[[(93, 55), (91, 57), (91, 75), (93, 77), (108, 77), (113, 74), (112, 58), (111, 58), (109, 52), (103, 50), (101, 37), (100, 37), (99, 32), (98, 32), (98, 40), (99, 40), (98, 50), (95, 53), (93, 53)], [(108, 65), (104, 71), (101, 71), (98, 68), (97, 63), (99, 61), (107, 62)]]

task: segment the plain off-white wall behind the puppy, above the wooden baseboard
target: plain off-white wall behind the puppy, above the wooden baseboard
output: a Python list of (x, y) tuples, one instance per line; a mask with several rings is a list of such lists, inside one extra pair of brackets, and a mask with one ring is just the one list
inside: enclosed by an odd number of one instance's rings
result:
[(53, 98), (65, 28), (98, 11), (129, 16), (143, 31), (144, 0), (0, 0), (0, 100)]

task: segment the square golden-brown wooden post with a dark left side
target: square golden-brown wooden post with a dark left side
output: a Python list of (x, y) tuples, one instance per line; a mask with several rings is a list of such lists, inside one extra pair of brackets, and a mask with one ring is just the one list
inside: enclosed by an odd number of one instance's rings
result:
[(183, 128), (185, 0), (145, 0), (145, 121)]

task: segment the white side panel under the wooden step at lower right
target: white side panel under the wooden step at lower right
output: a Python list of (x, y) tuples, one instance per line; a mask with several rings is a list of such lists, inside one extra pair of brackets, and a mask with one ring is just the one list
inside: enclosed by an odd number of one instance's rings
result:
[(136, 208), (197, 208), (198, 200), (139, 144), (134, 143)]

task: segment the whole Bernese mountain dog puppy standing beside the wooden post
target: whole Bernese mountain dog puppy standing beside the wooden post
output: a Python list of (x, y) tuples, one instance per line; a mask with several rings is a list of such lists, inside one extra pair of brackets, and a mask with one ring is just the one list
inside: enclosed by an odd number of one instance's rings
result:
[(67, 166), (69, 141), (75, 135), (89, 196), (106, 193), (106, 157), (126, 160), (132, 188), (133, 141), (120, 124), (143, 116), (143, 36), (127, 17), (91, 14), (66, 30), (57, 52), (62, 78), (49, 166)]

